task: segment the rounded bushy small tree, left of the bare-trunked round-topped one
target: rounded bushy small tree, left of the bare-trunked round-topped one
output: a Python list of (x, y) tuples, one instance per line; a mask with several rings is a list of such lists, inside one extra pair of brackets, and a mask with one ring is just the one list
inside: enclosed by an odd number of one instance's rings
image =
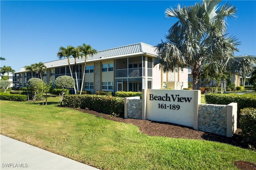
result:
[(39, 78), (31, 78), (28, 80), (28, 89), (33, 93), (33, 101), (36, 100), (36, 94), (38, 99), (42, 97), (43, 86), (44, 82)]

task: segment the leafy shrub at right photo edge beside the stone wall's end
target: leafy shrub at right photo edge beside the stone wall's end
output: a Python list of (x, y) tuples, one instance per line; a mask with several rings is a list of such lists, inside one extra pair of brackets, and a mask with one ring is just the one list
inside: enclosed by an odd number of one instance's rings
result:
[(239, 123), (243, 142), (256, 146), (256, 109), (244, 108), (241, 110)]

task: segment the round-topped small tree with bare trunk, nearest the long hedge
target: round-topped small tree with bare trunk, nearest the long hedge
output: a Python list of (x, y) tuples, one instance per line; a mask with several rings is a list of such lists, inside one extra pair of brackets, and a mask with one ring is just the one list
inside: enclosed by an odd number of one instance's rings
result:
[(62, 89), (61, 99), (60, 99), (60, 105), (62, 106), (62, 100), (63, 100), (63, 96), (65, 93), (64, 90), (72, 89), (75, 85), (75, 80), (71, 76), (62, 75), (62, 76), (56, 78), (54, 85), (57, 88)]

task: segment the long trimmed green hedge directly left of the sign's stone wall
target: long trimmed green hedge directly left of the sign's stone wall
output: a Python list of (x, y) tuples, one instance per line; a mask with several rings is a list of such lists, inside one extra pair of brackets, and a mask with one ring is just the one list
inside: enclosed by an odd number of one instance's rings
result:
[(88, 109), (106, 114), (124, 115), (124, 98), (106, 95), (66, 95), (63, 106)]

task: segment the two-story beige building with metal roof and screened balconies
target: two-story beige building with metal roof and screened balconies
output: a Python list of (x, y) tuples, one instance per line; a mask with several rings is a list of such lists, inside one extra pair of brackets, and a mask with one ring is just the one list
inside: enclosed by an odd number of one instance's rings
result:
[[(77, 59), (76, 72), (79, 89), (91, 91), (142, 91), (142, 89), (182, 89), (188, 87), (188, 69), (176, 69), (171, 73), (163, 73), (159, 65), (153, 67), (157, 56), (156, 48), (146, 43), (135, 43), (122, 47), (115, 47), (98, 51), (88, 56), (86, 60), (85, 81), (83, 87), (82, 76), (84, 57)], [(52, 82), (61, 75), (71, 75), (68, 59), (59, 59), (44, 63), (47, 69), (42, 77), (45, 82)], [(74, 58), (70, 57), (72, 75), (75, 77)], [(33, 72), (33, 77), (40, 78)], [(26, 87), (32, 78), (25, 68), (14, 73), (15, 87)]]

